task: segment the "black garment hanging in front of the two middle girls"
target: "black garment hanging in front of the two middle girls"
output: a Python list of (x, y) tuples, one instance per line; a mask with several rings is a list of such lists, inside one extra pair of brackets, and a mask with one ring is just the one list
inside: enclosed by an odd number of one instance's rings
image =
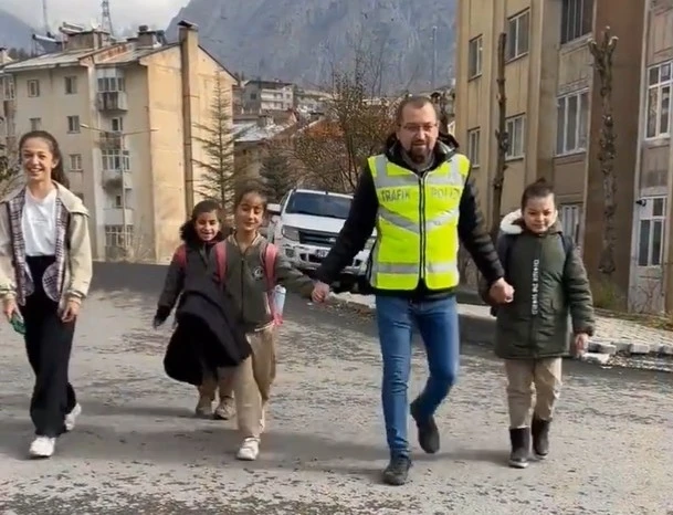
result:
[(186, 282), (176, 319), (164, 368), (177, 381), (199, 386), (204, 370), (235, 367), (251, 355), (228, 294), (210, 276)]

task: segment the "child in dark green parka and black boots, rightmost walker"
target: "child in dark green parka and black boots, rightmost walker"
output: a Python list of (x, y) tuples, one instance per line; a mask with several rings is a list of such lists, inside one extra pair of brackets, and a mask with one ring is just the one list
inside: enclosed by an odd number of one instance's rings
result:
[(582, 260), (562, 233), (554, 190), (545, 180), (529, 185), (522, 209), (504, 217), (497, 251), (515, 293), (512, 303), (494, 306), (495, 353), (505, 360), (507, 375), (509, 465), (525, 469), (530, 439), (537, 459), (549, 452), (562, 356), (569, 344), (575, 355), (587, 350), (595, 327), (593, 301)]

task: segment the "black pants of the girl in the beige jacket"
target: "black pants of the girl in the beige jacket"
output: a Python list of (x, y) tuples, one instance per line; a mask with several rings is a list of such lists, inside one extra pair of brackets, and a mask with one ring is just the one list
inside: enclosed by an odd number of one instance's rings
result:
[(35, 285), (21, 308), (25, 351), (35, 372), (30, 416), (38, 437), (56, 438), (65, 431), (65, 416), (77, 403), (67, 377), (75, 323), (61, 320), (59, 304), (46, 296), (42, 286), (42, 275), (54, 258), (28, 256), (27, 262)]

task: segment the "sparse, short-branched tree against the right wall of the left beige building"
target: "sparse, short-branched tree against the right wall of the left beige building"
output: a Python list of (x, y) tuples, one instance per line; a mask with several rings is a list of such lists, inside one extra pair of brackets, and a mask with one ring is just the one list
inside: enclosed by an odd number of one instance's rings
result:
[(234, 167), (234, 141), (238, 137), (233, 129), (231, 95), (225, 91), (222, 77), (218, 74), (210, 106), (210, 119), (196, 126), (201, 135), (194, 139), (203, 148), (203, 160), (194, 162), (203, 170), (198, 192), (207, 199), (215, 200), (224, 216), (233, 211), (234, 191), (242, 178), (236, 177)]

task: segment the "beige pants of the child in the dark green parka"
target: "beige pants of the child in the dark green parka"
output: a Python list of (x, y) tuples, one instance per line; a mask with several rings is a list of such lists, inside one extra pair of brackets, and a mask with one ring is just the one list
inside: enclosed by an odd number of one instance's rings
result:
[(562, 358), (505, 360), (512, 429), (530, 425), (534, 393), (535, 417), (551, 420), (562, 385), (561, 369)]

